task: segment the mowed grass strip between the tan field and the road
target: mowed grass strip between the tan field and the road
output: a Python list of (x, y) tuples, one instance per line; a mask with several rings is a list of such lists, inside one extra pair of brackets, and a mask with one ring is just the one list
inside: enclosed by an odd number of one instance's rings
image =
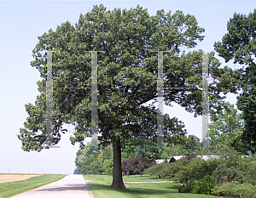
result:
[(0, 184), (0, 198), (7, 198), (28, 190), (36, 189), (42, 185), (50, 184), (64, 178), (64, 174), (45, 174), (42, 176), (29, 178), (17, 182), (8, 182)]

